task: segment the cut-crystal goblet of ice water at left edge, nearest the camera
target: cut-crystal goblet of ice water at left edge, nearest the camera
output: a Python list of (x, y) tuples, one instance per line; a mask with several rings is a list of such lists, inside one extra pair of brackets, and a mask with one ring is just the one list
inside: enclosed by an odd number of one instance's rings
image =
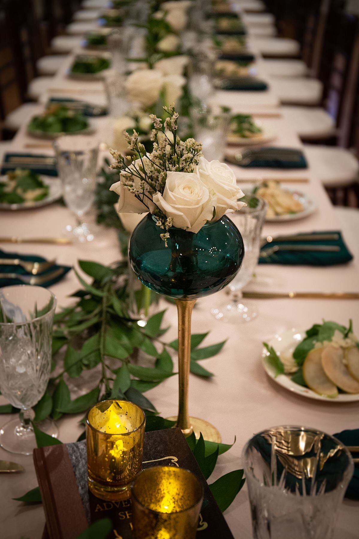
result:
[[(6, 286), (0, 290), (0, 391), (20, 418), (0, 429), (0, 445), (12, 453), (29, 455), (36, 447), (32, 407), (44, 396), (50, 377), (54, 294), (30, 285)], [(50, 419), (39, 428), (57, 437)]]

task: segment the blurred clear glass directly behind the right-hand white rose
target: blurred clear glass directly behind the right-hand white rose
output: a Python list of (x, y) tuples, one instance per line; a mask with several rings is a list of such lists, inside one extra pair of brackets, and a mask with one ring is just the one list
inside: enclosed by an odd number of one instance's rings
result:
[(230, 115), (213, 113), (207, 106), (191, 110), (195, 139), (202, 143), (202, 153), (208, 161), (224, 160)]

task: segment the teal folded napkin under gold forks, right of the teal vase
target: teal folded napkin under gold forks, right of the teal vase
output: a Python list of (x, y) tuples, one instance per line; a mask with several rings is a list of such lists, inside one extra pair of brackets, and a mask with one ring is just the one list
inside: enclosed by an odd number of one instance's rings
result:
[[(308, 232), (305, 232), (308, 234)], [(344, 243), (342, 234), (338, 230), (325, 232), (311, 232), (311, 234), (338, 234), (337, 240), (318, 241), (271, 241), (261, 248), (265, 251), (274, 245), (295, 244), (295, 245), (337, 245), (340, 251), (337, 252), (315, 252), (315, 251), (277, 251), (269, 257), (260, 257), (259, 264), (287, 264), (291, 266), (334, 266), (336, 264), (346, 264), (353, 259), (353, 255)], [(300, 234), (298, 234), (300, 236)]]

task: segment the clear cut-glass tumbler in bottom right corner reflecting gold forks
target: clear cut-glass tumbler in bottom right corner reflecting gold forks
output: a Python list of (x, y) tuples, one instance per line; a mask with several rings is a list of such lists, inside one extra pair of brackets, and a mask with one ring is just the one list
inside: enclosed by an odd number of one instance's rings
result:
[(243, 448), (254, 539), (332, 539), (353, 459), (336, 438), (280, 426)]

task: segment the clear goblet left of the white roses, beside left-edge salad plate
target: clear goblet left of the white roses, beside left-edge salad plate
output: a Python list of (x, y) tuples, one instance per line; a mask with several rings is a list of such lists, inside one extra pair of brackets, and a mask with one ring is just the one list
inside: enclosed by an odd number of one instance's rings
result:
[(98, 142), (83, 135), (65, 135), (54, 143), (64, 201), (76, 216), (76, 226), (66, 230), (85, 243), (94, 239), (94, 233), (83, 216), (95, 198)]

